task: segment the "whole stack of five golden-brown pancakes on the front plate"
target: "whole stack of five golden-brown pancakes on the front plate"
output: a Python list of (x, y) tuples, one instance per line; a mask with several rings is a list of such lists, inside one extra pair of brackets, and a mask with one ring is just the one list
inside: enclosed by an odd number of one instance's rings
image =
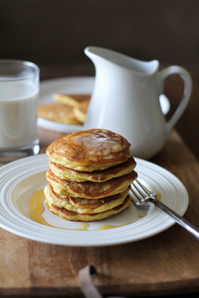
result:
[(72, 221), (107, 218), (131, 205), (130, 184), (137, 178), (130, 144), (104, 129), (58, 138), (46, 150), (49, 166), (46, 206)]

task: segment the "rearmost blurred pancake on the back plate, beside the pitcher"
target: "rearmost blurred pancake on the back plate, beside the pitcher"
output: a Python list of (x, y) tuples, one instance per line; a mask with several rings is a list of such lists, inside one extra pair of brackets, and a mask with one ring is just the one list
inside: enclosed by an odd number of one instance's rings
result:
[(90, 97), (90, 94), (53, 94), (54, 100), (70, 107), (78, 106), (79, 103), (89, 100)]

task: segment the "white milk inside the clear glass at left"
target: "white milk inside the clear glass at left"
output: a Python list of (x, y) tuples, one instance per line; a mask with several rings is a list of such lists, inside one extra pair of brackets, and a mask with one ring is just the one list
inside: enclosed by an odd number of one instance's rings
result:
[(0, 84), (0, 150), (30, 145), (37, 139), (39, 90), (24, 81)]

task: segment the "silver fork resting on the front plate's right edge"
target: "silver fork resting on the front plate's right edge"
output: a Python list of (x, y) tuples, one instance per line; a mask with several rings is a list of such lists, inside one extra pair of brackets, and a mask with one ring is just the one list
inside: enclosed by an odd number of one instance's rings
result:
[[(137, 186), (137, 184), (139, 186)], [(144, 191), (142, 192), (141, 189)], [(132, 194), (131, 194), (132, 192)], [(161, 210), (169, 214), (178, 224), (185, 228), (189, 233), (191, 233), (195, 238), (199, 240), (199, 229), (192, 225), (188, 220), (184, 219), (174, 210), (170, 209), (168, 206), (164, 205), (161, 201), (156, 198), (155, 192), (150, 192), (138, 179), (131, 183), (131, 190), (129, 192), (132, 203), (136, 206), (142, 206), (147, 202), (153, 203), (155, 206), (159, 207)]]

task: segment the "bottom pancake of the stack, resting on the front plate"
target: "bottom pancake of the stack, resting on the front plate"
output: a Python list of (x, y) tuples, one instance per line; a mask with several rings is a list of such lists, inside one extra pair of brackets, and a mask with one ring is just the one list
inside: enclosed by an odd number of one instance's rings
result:
[(72, 220), (72, 221), (88, 222), (88, 221), (105, 219), (105, 218), (108, 218), (114, 214), (121, 212), (122, 210), (124, 210), (125, 208), (127, 208), (128, 206), (131, 205), (131, 197), (129, 195), (127, 195), (127, 197), (124, 199), (124, 201), (121, 205), (118, 205), (117, 207), (114, 207), (113, 209), (110, 209), (110, 210), (107, 210), (104, 212), (100, 212), (100, 213), (94, 213), (94, 214), (78, 214), (76, 212), (67, 210), (65, 208), (57, 207), (57, 206), (51, 204), (48, 201), (48, 198), (45, 201), (45, 205), (49, 209), (50, 212), (52, 212), (53, 214), (56, 214), (64, 219)]

